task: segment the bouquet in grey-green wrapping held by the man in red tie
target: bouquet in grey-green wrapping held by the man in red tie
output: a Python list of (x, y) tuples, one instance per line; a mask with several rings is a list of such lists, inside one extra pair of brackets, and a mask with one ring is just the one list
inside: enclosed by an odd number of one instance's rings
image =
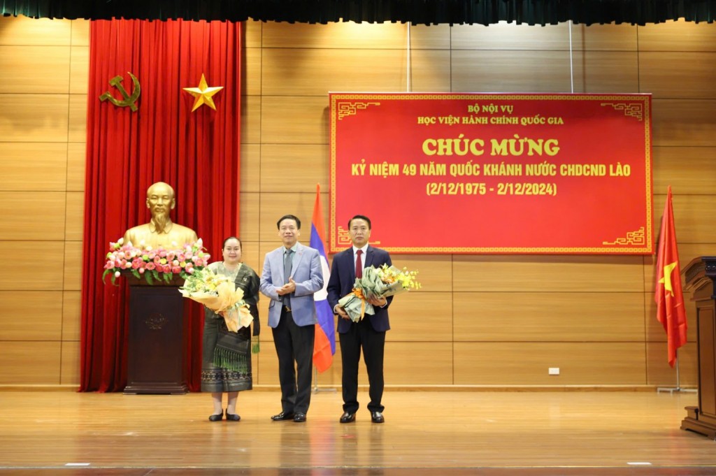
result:
[(417, 271), (407, 271), (407, 268), (400, 270), (387, 264), (379, 268), (370, 266), (363, 270), (362, 278), (356, 278), (353, 292), (340, 298), (338, 303), (352, 321), (358, 322), (365, 314), (375, 314), (373, 305), (367, 299), (387, 298), (410, 289), (420, 289), (420, 283), (415, 280), (416, 275)]

